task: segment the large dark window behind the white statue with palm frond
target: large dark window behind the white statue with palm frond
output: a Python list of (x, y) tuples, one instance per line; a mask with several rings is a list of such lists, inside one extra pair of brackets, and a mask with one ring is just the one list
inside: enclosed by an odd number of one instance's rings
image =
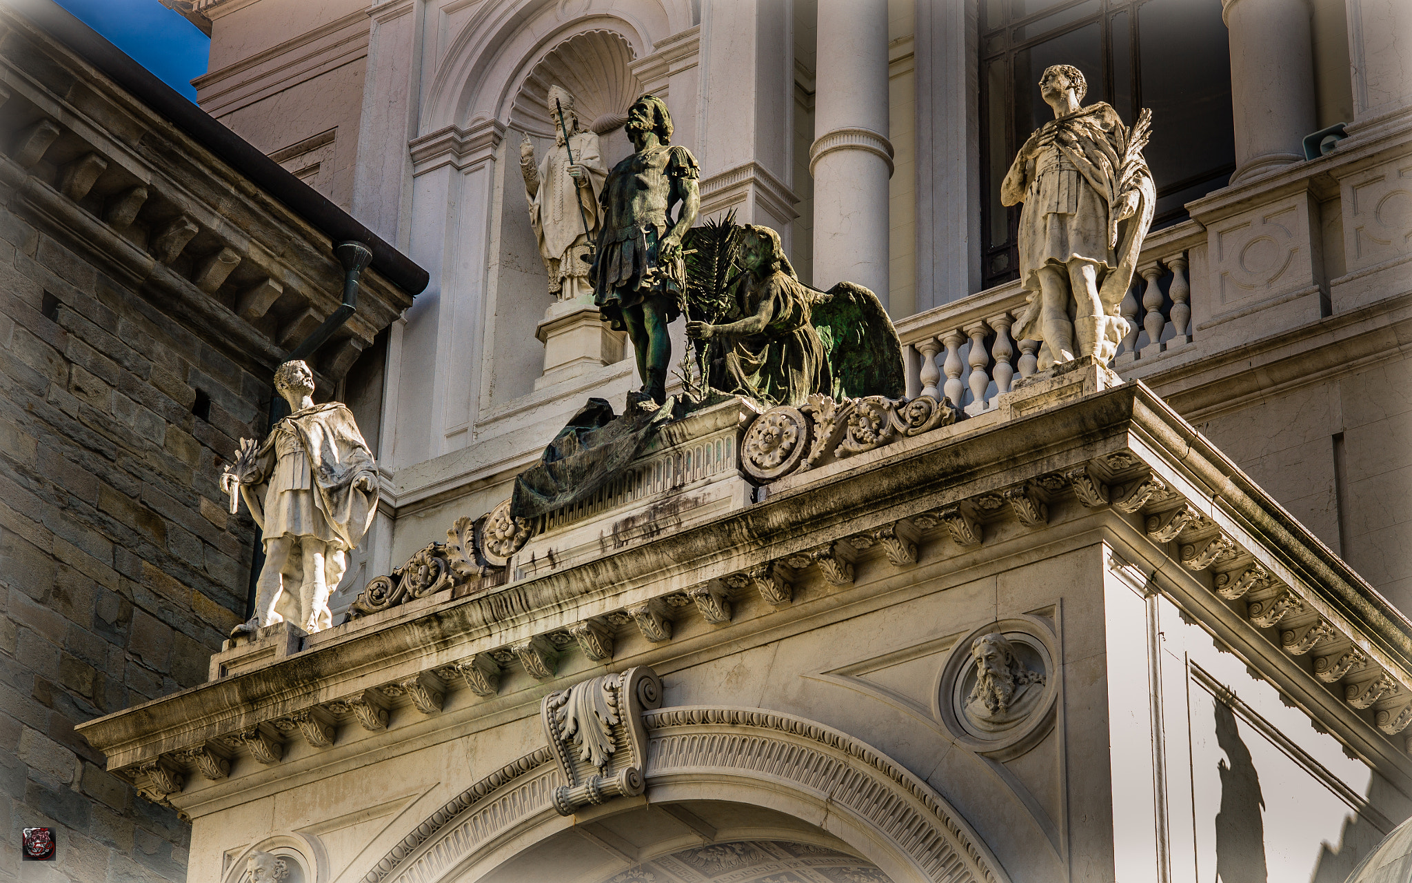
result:
[(1152, 109), (1148, 165), (1152, 226), (1186, 218), (1185, 203), (1226, 186), (1236, 171), (1230, 51), (1220, 0), (980, 0), (981, 277), (1019, 275), (1019, 206), (1000, 182), (1029, 133), (1053, 119), (1039, 96), (1049, 65), (1083, 71), (1083, 103), (1108, 102), (1130, 126)]

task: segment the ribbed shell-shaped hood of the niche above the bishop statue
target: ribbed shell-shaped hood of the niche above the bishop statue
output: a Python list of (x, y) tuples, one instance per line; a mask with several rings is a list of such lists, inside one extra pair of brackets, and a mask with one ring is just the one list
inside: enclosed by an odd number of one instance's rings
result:
[(541, 138), (554, 137), (549, 86), (573, 96), (579, 124), (599, 134), (623, 124), (642, 86), (628, 65), (633, 47), (613, 31), (587, 31), (561, 42), (530, 71), (510, 110), (510, 127)]

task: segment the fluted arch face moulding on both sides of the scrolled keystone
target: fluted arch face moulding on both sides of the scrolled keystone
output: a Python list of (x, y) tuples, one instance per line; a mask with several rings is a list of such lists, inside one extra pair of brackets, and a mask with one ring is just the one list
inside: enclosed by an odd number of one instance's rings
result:
[[(758, 708), (661, 708), (642, 718), (655, 802), (714, 800), (826, 817), (827, 834), (894, 880), (1010, 883), (940, 794), (847, 733)], [(562, 784), (549, 747), (537, 749), (424, 819), (360, 883), (441, 882), (534, 849), (572, 824), (554, 811)]]

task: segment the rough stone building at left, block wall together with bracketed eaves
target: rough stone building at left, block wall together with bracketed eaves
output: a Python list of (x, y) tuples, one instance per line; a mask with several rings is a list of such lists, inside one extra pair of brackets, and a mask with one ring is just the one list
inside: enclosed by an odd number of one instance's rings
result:
[[(254, 531), (219, 469), (342, 271), (51, 23), (0, 10), (0, 880), (185, 880), (189, 824), (73, 728), (201, 684), (244, 619)], [(326, 390), (408, 302), (367, 274)], [(35, 825), (58, 859), (21, 867)]]

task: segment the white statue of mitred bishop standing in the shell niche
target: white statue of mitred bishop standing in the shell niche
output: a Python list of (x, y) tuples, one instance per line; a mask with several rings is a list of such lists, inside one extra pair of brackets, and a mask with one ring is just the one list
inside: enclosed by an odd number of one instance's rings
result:
[[(579, 126), (573, 96), (562, 86), (549, 88), (549, 117), (554, 122), (554, 147), (535, 162), (534, 144), (525, 136), (520, 143), (520, 171), (530, 196), (530, 223), (549, 273), (549, 294), (572, 301), (593, 295), (593, 285), (587, 281), (589, 261), (582, 259), (599, 235), (599, 194), (609, 170), (599, 150), (599, 136)], [(585, 225), (589, 233), (585, 233)]]

